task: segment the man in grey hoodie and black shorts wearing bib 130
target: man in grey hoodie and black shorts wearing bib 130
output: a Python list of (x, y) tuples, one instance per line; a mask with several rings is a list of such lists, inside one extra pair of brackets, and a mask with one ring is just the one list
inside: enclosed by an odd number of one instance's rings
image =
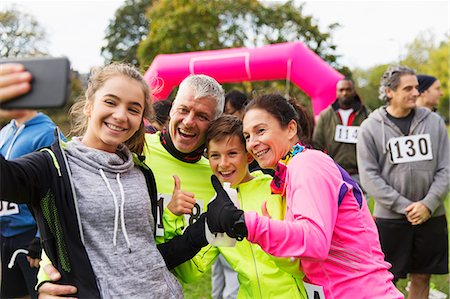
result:
[(414, 70), (389, 67), (379, 91), (386, 105), (369, 115), (358, 134), (361, 183), (375, 199), (381, 246), (395, 281), (409, 273), (409, 298), (428, 298), (431, 274), (448, 273), (447, 130), (437, 114), (416, 107)]

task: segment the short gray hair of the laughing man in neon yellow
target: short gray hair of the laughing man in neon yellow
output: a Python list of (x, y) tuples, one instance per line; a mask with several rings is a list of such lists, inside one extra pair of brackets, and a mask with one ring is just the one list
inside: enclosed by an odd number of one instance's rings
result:
[(225, 108), (225, 92), (214, 78), (206, 75), (189, 75), (180, 83), (175, 101), (187, 88), (194, 93), (194, 99), (210, 98), (216, 102), (214, 119), (222, 115)]

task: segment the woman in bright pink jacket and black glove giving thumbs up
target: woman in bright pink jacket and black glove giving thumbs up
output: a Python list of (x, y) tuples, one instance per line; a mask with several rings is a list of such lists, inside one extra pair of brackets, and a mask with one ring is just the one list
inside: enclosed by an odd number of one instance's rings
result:
[(263, 95), (248, 104), (243, 121), (247, 150), (275, 170), (272, 192), (286, 200), (285, 220), (238, 210), (213, 177), (218, 195), (208, 206), (209, 228), (300, 259), (310, 298), (403, 298), (360, 187), (329, 156), (303, 146), (293, 105)]

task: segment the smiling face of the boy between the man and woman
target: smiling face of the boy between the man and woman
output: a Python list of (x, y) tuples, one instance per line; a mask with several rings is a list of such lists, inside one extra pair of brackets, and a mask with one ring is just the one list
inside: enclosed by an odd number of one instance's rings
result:
[(252, 179), (248, 164), (253, 160), (245, 150), (239, 136), (227, 136), (208, 143), (209, 165), (221, 183), (229, 182), (231, 187)]

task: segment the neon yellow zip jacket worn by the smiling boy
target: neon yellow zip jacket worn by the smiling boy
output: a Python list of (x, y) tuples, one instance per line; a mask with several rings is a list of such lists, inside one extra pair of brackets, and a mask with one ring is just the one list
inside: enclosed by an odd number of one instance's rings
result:
[[(254, 179), (239, 184), (237, 188), (240, 208), (261, 214), (261, 206), (267, 201), (266, 207), (272, 219), (281, 220), (285, 211), (284, 200), (279, 195), (271, 194), (272, 177), (261, 171), (252, 175)], [(273, 257), (246, 239), (237, 242), (235, 247), (203, 247), (194, 257), (195, 262), (186, 262), (189, 267), (185, 265), (183, 270), (176, 269), (176, 274), (184, 282), (195, 281), (211, 268), (219, 254), (238, 273), (239, 299), (307, 298), (298, 259), (291, 261), (289, 258)]]

